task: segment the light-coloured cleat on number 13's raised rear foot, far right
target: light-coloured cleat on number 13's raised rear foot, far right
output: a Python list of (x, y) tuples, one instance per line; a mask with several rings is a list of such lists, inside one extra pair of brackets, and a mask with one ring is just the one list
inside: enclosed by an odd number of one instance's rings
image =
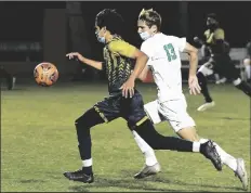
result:
[(245, 160), (242, 158), (237, 158), (237, 169), (235, 176), (239, 178), (242, 183), (243, 190), (248, 190), (248, 173), (245, 168)]

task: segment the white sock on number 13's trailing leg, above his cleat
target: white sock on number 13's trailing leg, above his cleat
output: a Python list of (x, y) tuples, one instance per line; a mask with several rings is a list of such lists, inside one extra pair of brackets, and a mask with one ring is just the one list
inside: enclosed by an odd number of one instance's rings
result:
[(227, 154), (224, 150), (222, 150), (221, 146), (219, 146), (219, 144), (216, 144), (215, 142), (213, 142), (213, 144), (216, 147), (216, 151), (219, 153), (219, 155), (221, 156), (222, 163), (227, 165), (233, 171), (236, 171), (237, 169), (237, 162), (236, 158), (233, 157), (232, 155)]

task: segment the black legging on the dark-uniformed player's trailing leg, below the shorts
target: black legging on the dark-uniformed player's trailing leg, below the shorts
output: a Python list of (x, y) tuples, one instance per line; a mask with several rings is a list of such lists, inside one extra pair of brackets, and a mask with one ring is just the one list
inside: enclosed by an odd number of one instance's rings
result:
[(193, 152), (193, 142), (158, 133), (149, 119), (133, 128), (154, 150)]

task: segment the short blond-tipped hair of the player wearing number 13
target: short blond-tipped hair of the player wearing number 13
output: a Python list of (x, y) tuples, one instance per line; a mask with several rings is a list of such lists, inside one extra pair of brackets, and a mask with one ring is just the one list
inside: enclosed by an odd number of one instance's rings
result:
[(143, 9), (138, 15), (138, 21), (144, 21), (148, 27), (156, 25), (158, 30), (161, 28), (161, 16), (158, 12)]

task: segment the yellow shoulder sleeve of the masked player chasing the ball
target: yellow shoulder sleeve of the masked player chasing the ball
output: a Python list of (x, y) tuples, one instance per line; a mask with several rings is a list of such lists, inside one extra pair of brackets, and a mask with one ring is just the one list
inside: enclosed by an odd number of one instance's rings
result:
[(136, 50), (135, 47), (131, 46), (130, 43), (123, 40), (111, 41), (108, 48), (111, 52), (116, 52), (127, 57), (133, 57), (134, 52)]

